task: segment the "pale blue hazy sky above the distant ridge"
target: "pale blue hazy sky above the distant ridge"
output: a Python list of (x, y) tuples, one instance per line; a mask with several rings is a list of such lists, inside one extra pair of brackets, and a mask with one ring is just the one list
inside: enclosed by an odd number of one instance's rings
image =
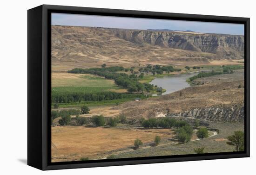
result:
[(243, 24), (196, 22), (169, 19), (142, 19), (67, 13), (52, 13), (52, 25), (110, 27), (139, 30), (170, 29), (177, 31), (189, 30), (202, 33), (244, 35)]

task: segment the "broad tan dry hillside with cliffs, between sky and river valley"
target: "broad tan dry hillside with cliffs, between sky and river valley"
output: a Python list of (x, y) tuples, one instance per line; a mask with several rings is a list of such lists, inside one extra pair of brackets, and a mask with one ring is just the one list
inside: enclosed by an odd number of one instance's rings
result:
[(108, 66), (234, 64), (243, 59), (241, 48), (243, 36), (52, 26), (53, 71), (102, 63)]

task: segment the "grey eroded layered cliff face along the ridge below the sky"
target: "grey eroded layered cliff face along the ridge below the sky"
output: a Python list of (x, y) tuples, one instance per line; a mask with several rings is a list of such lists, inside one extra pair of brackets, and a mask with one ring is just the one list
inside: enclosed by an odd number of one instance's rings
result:
[(112, 29), (118, 38), (135, 44), (155, 44), (174, 49), (209, 52), (223, 57), (243, 58), (244, 37), (195, 32)]

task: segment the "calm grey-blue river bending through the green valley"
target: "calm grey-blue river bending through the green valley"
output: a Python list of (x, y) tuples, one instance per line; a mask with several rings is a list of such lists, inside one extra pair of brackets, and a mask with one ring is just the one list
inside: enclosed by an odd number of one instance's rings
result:
[(161, 78), (155, 78), (154, 80), (150, 81), (150, 84), (157, 85), (158, 87), (162, 87), (166, 90), (164, 93), (160, 94), (152, 94), (152, 96), (160, 96), (165, 94), (170, 94), (175, 91), (181, 90), (183, 88), (189, 87), (189, 83), (186, 81), (188, 78), (197, 75), (196, 73), (188, 73), (188, 74), (177, 74), (173, 76), (164, 76)]

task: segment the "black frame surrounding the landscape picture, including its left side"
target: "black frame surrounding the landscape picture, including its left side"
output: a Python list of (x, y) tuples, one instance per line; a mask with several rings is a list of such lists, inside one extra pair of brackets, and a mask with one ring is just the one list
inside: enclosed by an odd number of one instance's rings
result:
[[(245, 150), (203, 155), (157, 156), (75, 162), (50, 161), (51, 12), (244, 24)], [(27, 164), (41, 170), (249, 157), (249, 18), (41, 5), (27, 11)]]

